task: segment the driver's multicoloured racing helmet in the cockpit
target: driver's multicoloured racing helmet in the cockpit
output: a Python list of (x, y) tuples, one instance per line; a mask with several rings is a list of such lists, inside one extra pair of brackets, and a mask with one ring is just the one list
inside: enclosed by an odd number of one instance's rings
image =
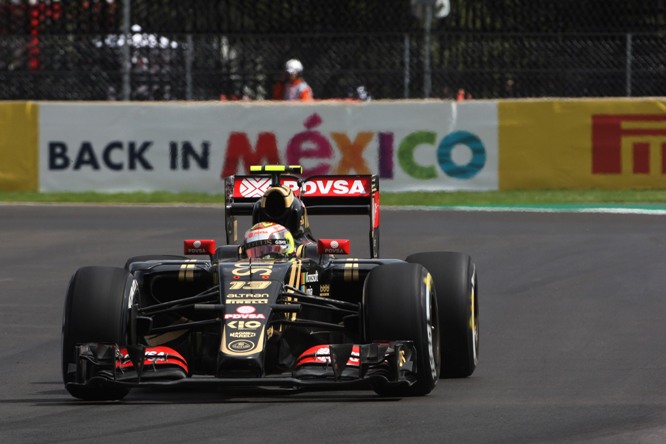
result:
[(245, 232), (243, 250), (251, 259), (284, 257), (294, 252), (294, 237), (273, 222), (260, 222)]

